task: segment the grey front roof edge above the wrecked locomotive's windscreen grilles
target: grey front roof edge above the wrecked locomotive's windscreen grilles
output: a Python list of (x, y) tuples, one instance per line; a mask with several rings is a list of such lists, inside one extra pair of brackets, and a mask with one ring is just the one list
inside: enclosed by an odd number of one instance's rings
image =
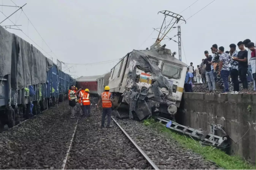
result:
[(133, 50), (131, 53), (134, 53), (137, 56), (141, 56), (141, 55), (151, 56), (151, 57), (155, 57), (158, 59), (174, 62), (174, 63), (180, 64), (184, 67), (187, 67), (187, 64), (185, 64), (184, 62), (180, 61), (179, 59), (173, 57), (172, 54), (164, 52), (163, 55), (159, 55), (158, 51), (159, 50)]

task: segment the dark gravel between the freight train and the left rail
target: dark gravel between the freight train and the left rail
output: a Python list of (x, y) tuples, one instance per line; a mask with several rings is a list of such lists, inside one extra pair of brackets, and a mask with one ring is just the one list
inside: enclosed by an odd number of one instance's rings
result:
[(65, 101), (1, 133), (0, 169), (60, 169), (76, 122)]

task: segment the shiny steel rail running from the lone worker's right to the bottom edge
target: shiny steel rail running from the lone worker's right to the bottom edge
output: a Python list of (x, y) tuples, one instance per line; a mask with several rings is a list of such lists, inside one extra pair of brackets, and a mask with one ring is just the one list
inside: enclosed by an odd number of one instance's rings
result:
[(148, 158), (147, 154), (137, 145), (137, 143), (127, 134), (127, 132), (122, 128), (122, 126), (112, 117), (112, 120), (118, 125), (118, 127), (123, 131), (125, 136), (132, 142), (135, 148), (142, 154), (142, 156), (146, 159), (146, 161), (152, 166), (153, 169), (159, 169), (156, 164)]

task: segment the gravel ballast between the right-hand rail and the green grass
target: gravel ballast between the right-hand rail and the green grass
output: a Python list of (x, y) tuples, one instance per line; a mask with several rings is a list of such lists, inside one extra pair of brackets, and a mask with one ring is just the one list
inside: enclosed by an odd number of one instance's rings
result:
[(158, 134), (141, 122), (118, 119), (118, 123), (159, 169), (218, 169), (214, 163), (183, 149), (176, 141)]

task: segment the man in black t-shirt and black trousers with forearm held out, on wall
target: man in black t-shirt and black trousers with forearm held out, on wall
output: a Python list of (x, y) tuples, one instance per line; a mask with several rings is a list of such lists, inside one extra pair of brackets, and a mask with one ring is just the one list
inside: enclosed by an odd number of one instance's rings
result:
[(238, 57), (234, 57), (233, 60), (238, 61), (238, 75), (243, 84), (243, 90), (241, 93), (247, 93), (248, 91), (248, 82), (247, 82), (247, 72), (248, 72), (248, 51), (244, 48), (242, 41), (237, 43), (240, 51), (238, 52)]

